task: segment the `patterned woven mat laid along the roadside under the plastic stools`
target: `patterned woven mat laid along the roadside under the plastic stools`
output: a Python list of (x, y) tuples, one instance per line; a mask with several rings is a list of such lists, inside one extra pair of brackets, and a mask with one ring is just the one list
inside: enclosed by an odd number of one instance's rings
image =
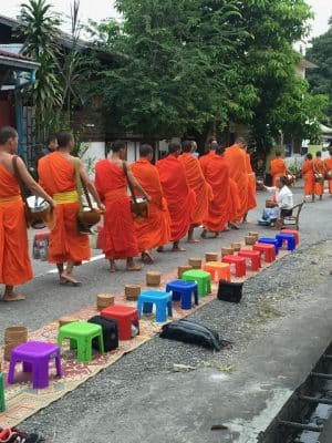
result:
[[(278, 259), (287, 255), (287, 251), (280, 251)], [(270, 264), (264, 264), (261, 269), (266, 268)], [(253, 277), (256, 272), (247, 271), (246, 278), (232, 278), (232, 281), (245, 281), (246, 279)], [(177, 278), (177, 270), (164, 274), (162, 276), (160, 288), (165, 287), (167, 281)], [(144, 288), (144, 286), (142, 286)], [(216, 297), (217, 284), (212, 284), (212, 293), (199, 299), (199, 306), (194, 307), (191, 310), (181, 310), (178, 302), (174, 303), (173, 320), (184, 318), (195, 310), (210, 302)], [(126, 301), (124, 293), (115, 295), (115, 303), (136, 306), (135, 302)], [(71, 317), (87, 320), (89, 318), (97, 315), (95, 305), (89, 306), (81, 309), (77, 312), (70, 313)], [(61, 399), (68, 392), (73, 391), (80, 384), (84, 383), (91, 377), (104, 368), (110, 367), (120, 360), (125, 353), (133, 351), (147, 340), (152, 339), (160, 330), (160, 323), (154, 321), (154, 317), (143, 317), (139, 320), (139, 336), (136, 336), (132, 340), (121, 341), (120, 347), (111, 352), (100, 356), (94, 353), (93, 360), (90, 363), (79, 363), (75, 359), (75, 352), (70, 351), (69, 348), (62, 349), (62, 372), (61, 379), (55, 377), (54, 362), (50, 362), (50, 384), (45, 389), (33, 390), (31, 383), (31, 374), (20, 372), (21, 368), (18, 364), (15, 371), (15, 383), (6, 384), (6, 411), (0, 413), (0, 425), (2, 427), (12, 427), (18, 425), (23, 420), (33, 415), (39, 410), (48, 406), (55, 400)], [(29, 333), (29, 340), (39, 340), (55, 342), (58, 337), (58, 321), (42, 327), (41, 329)], [(3, 349), (0, 349), (3, 352)], [(7, 380), (8, 362), (3, 362), (3, 379)]]

